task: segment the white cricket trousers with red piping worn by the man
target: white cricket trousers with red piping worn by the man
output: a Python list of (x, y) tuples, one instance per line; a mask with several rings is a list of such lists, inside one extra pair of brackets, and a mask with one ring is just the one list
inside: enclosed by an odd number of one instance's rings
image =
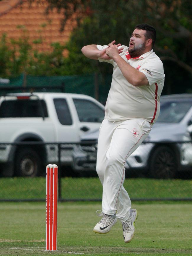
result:
[(129, 218), (131, 209), (131, 200), (123, 187), (125, 162), (150, 130), (151, 124), (145, 119), (104, 119), (100, 127), (96, 169), (103, 185), (102, 212), (116, 213), (121, 222)]

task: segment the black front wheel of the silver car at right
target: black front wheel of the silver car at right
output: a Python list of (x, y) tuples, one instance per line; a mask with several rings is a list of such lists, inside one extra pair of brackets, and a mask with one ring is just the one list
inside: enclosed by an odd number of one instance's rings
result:
[(159, 146), (149, 160), (150, 176), (156, 179), (173, 179), (177, 173), (177, 161), (174, 150)]

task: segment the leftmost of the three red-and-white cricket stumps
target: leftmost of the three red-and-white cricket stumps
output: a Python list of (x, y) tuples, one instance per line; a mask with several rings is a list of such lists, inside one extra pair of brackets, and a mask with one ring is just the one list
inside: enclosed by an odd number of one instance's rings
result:
[(49, 208), (50, 208), (50, 198), (49, 198), (49, 176), (50, 168), (46, 168), (46, 251), (49, 250)]

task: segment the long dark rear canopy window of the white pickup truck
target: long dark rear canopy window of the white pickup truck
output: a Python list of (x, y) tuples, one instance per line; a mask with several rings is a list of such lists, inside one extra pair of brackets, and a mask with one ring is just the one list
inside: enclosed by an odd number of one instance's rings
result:
[(17, 99), (5, 100), (0, 106), (0, 117), (48, 117), (44, 100)]

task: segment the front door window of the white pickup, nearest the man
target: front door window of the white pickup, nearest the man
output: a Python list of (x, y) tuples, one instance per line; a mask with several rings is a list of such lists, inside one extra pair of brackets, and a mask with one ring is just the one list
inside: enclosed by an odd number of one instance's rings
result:
[(92, 101), (84, 99), (73, 99), (80, 122), (101, 123), (105, 111)]

